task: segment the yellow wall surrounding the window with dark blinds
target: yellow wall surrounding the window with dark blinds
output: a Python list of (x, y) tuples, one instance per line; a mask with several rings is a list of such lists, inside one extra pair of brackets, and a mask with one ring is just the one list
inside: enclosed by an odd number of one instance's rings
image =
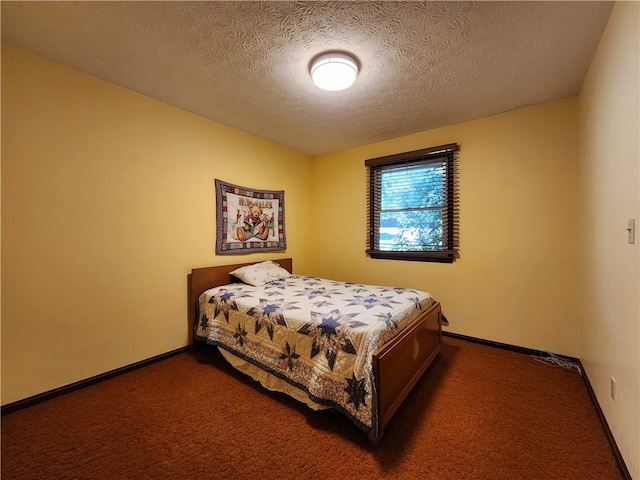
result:
[[(313, 271), (422, 288), (452, 332), (577, 356), (577, 106), (570, 98), (314, 159)], [(367, 257), (364, 160), (453, 142), (460, 258)]]

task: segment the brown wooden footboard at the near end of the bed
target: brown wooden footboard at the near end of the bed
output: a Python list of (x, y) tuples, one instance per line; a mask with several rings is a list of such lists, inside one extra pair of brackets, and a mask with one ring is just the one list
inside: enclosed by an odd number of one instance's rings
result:
[[(436, 303), (373, 354), (380, 435), (442, 344), (440, 304)], [(378, 441), (380, 438), (378, 438)]]

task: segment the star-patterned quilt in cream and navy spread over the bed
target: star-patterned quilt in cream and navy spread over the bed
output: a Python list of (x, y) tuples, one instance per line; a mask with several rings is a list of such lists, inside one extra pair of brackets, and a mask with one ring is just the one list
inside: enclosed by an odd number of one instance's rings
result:
[(233, 283), (200, 296), (195, 337), (341, 411), (375, 439), (373, 352), (434, 303), (420, 290), (297, 275), (262, 287)]

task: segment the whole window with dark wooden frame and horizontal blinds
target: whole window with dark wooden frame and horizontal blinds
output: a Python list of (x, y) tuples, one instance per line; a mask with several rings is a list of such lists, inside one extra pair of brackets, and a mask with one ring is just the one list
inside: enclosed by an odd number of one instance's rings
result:
[(365, 161), (371, 258), (454, 261), (457, 152), (454, 143)]

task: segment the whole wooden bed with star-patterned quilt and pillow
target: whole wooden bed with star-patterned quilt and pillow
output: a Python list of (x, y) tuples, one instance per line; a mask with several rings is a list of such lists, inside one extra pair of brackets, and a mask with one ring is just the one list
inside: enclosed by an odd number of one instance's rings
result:
[(419, 290), (293, 275), (292, 267), (285, 258), (193, 269), (192, 349), (217, 347), (264, 387), (338, 410), (377, 445), (440, 352), (440, 304)]

